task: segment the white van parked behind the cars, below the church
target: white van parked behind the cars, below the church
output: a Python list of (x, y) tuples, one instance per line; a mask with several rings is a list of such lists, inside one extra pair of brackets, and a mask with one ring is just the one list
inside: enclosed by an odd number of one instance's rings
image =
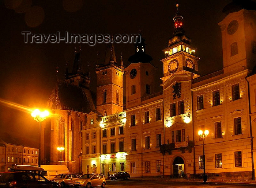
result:
[(41, 168), (44, 169), (42, 176), (46, 177), (48, 180), (59, 174), (69, 173), (68, 167), (65, 165), (41, 165)]

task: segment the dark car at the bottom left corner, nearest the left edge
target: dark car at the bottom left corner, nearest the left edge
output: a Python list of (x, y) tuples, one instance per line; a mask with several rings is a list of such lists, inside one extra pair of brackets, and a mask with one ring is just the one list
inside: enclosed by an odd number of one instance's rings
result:
[(60, 188), (60, 184), (30, 172), (0, 172), (0, 188)]

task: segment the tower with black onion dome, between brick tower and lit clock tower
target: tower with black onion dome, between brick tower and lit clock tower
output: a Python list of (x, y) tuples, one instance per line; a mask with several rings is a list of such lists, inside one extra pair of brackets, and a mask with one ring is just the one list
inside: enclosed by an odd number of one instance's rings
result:
[(141, 37), (141, 41), (135, 44), (135, 54), (128, 59), (131, 64), (125, 68), (126, 109), (140, 105), (141, 98), (154, 94), (156, 90), (157, 68), (150, 63), (152, 57), (145, 50), (145, 39)]

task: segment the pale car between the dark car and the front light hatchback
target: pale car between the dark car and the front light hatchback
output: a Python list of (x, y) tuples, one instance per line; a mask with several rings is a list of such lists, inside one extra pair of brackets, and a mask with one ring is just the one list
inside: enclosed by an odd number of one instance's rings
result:
[(80, 176), (77, 174), (59, 174), (54, 178), (49, 179), (50, 181), (55, 181), (60, 184), (61, 188), (65, 187), (65, 185), (74, 185), (76, 179)]

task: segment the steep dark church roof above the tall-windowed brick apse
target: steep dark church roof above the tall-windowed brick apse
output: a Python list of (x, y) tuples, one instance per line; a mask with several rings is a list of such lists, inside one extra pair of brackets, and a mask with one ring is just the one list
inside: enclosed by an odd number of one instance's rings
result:
[(82, 113), (95, 111), (91, 91), (58, 80), (48, 100), (50, 109), (74, 110)]

